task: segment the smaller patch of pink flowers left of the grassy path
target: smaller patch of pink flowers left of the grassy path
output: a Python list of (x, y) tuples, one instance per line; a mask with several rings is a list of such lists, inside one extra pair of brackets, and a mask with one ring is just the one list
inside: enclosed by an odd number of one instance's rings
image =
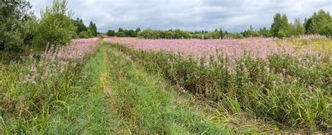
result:
[(75, 39), (71, 45), (54, 48), (50, 46), (36, 59), (34, 54), (27, 57), (31, 64), (28, 73), (22, 78), (25, 83), (36, 84), (39, 79), (57, 78), (67, 69), (76, 67), (83, 61), (85, 55), (94, 52), (97, 49), (97, 38)]

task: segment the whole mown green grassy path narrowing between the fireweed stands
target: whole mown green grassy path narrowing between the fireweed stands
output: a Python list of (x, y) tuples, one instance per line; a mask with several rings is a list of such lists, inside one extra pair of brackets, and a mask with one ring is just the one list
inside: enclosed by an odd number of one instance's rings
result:
[[(31, 134), (231, 134), (191, 105), (189, 94), (146, 73), (103, 42), (72, 81), (71, 93)], [(27, 125), (28, 126), (28, 125)], [(29, 127), (26, 127), (29, 128)]]

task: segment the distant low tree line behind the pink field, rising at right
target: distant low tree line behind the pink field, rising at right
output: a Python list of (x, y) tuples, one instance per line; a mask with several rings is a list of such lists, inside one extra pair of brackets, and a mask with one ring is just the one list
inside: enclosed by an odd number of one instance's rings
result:
[[(139, 28), (137, 28), (139, 29)], [(232, 33), (223, 29), (215, 29), (214, 31), (184, 31), (181, 29), (170, 30), (109, 30), (108, 36), (119, 37), (138, 37), (138, 38), (200, 38), (200, 39), (216, 39), (216, 38), (246, 38), (246, 37), (277, 37), (285, 38), (291, 36), (300, 36), (303, 34), (321, 34), (330, 37), (332, 34), (332, 16), (324, 10), (314, 12), (309, 18), (305, 18), (303, 22), (296, 18), (293, 22), (289, 22), (285, 14), (276, 13), (270, 29), (263, 27), (255, 30), (252, 25), (249, 29)]]

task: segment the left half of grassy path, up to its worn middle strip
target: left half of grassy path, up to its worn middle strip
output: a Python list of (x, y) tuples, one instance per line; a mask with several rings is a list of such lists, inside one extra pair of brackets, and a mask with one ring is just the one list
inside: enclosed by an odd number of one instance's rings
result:
[(104, 56), (101, 48), (83, 66), (74, 81), (75, 92), (60, 101), (56, 115), (45, 129), (46, 134), (114, 134), (121, 120), (109, 109), (104, 94)]

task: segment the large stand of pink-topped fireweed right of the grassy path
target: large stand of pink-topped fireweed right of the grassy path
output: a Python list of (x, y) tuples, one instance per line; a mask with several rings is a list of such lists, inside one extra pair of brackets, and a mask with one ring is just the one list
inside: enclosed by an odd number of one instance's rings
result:
[(331, 132), (331, 38), (104, 40), (182, 92), (221, 105), (226, 115)]

